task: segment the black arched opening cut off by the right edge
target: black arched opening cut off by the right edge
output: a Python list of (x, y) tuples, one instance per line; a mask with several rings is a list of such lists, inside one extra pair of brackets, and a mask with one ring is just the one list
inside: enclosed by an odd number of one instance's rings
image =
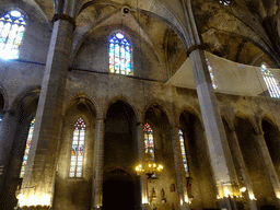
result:
[(268, 151), (272, 159), (276, 172), (280, 177), (280, 133), (279, 130), (269, 122), (269, 120), (264, 119), (261, 121), (261, 127), (264, 131), (264, 137), (267, 143)]

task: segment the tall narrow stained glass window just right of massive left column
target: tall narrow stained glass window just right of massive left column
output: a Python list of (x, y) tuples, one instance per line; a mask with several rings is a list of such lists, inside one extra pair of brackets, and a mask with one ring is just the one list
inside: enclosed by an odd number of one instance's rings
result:
[(80, 117), (75, 120), (70, 161), (70, 177), (82, 177), (84, 154), (85, 122)]

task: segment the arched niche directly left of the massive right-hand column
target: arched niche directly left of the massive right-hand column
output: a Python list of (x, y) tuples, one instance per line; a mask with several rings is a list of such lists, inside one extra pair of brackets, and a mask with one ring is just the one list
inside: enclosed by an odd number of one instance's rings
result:
[(215, 187), (202, 125), (196, 115), (183, 112), (179, 126), (188, 162), (188, 196), (194, 198), (191, 206), (194, 209), (215, 209)]

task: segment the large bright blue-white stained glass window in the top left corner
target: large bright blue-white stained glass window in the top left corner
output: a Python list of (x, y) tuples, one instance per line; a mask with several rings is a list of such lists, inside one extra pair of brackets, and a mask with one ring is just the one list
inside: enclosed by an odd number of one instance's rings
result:
[(16, 59), (26, 22), (21, 12), (13, 10), (0, 18), (0, 58)]

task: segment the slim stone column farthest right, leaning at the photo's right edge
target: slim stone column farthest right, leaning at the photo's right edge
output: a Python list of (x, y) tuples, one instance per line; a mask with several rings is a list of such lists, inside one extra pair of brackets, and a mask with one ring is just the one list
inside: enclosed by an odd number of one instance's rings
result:
[(262, 161), (265, 163), (266, 166), (266, 172), (267, 175), (269, 176), (269, 180), (272, 185), (272, 188), (275, 190), (275, 195), (276, 195), (276, 199), (278, 201), (278, 205), (280, 205), (280, 183), (279, 183), (279, 178), (277, 176), (276, 173), (276, 168), (273, 165), (273, 162), (271, 160), (271, 156), (269, 154), (267, 144), (266, 144), (266, 140), (264, 137), (264, 132), (259, 132), (256, 135), (256, 140), (257, 140), (257, 144), (259, 147), (259, 151), (260, 151), (260, 155), (262, 158)]

